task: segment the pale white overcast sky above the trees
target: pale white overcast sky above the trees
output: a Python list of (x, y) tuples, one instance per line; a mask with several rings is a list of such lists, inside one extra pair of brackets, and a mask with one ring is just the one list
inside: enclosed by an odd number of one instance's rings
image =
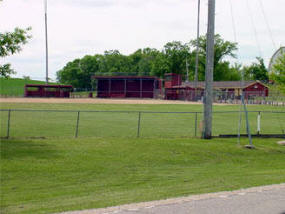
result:
[[(131, 54), (145, 47), (161, 50), (167, 42), (186, 43), (196, 38), (198, 0), (47, 2), (52, 80), (67, 62), (85, 55), (115, 49)], [(201, 0), (201, 34), (207, 32), (207, 4), (208, 0)], [(284, 8), (284, 0), (216, 0), (216, 33), (239, 44), (238, 59), (231, 59), (232, 63), (250, 64), (258, 56), (269, 62), (274, 52), (285, 45)], [(0, 32), (29, 26), (32, 39), (20, 53), (2, 58), (0, 63), (11, 63), (17, 72), (15, 77), (44, 80), (44, 0), (0, 3)]]

